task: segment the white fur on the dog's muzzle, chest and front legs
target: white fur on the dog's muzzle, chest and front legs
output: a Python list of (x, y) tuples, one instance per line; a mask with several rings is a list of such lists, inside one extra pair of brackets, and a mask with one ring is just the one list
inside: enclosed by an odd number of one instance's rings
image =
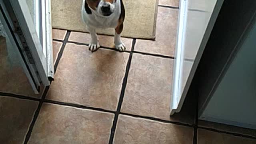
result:
[[(84, 8), (85, 0), (83, 0), (82, 4), (82, 20), (87, 26), (88, 31), (91, 34), (91, 42), (89, 44), (89, 50), (92, 52), (97, 50), (100, 47), (100, 44), (98, 42), (98, 36), (96, 34), (96, 28), (116, 28), (118, 26), (118, 19), (121, 14), (121, 4), (120, 0), (116, 0), (113, 4), (110, 4), (110, 10), (112, 14), (110, 16), (103, 16), (101, 12), (101, 7), (106, 4), (104, 0), (100, 0), (100, 3), (98, 4), (98, 7), (96, 10), (92, 11), (92, 14), (87, 14), (85, 8)], [(124, 43), (121, 40), (120, 34), (115, 34), (115, 47), (116, 49), (120, 51), (125, 50)]]

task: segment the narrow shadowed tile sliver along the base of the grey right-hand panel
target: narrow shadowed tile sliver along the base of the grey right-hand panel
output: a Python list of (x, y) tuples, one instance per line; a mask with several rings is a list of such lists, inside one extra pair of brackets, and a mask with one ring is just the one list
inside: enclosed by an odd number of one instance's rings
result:
[(256, 138), (256, 130), (248, 129), (248, 128), (241, 128), (237, 126), (230, 126), (226, 124), (220, 124), (215, 122), (208, 122), (204, 120), (198, 120), (198, 126), (204, 128), (214, 128), (215, 130), (221, 130), (225, 132), (232, 132), (237, 134), (244, 134), (247, 136), (254, 136)]

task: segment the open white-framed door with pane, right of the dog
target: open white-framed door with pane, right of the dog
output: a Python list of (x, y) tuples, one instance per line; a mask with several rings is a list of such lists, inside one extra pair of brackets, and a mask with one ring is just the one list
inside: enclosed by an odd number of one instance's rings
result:
[(180, 0), (170, 115), (180, 112), (224, 0)]

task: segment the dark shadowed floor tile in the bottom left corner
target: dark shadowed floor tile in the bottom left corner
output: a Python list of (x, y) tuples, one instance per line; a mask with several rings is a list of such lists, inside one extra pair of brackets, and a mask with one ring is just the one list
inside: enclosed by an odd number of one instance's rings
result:
[(38, 102), (0, 96), (0, 143), (23, 144)]

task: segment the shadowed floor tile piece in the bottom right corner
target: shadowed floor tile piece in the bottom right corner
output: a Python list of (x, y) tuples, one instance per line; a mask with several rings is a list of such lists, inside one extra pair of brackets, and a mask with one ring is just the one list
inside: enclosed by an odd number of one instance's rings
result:
[(256, 139), (243, 138), (230, 134), (222, 134), (198, 129), (198, 144), (256, 144)]

